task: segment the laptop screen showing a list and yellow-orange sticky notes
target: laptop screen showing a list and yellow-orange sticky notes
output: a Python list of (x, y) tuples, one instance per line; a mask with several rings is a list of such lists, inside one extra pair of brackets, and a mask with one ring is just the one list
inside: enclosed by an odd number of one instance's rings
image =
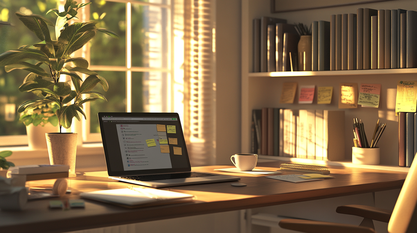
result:
[(98, 114), (109, 176), (190, 171), (176, 113)]

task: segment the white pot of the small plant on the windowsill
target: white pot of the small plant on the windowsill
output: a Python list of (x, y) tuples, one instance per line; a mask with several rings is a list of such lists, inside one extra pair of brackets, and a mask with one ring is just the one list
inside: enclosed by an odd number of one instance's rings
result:
[(30, 149), (46, 149), (46, 133), (55, 133), (59, 131), (59, 126), (53, 126), (48, 122), (45, 126), (26, 126), (26, 134), (28, 135), (28, 145)]

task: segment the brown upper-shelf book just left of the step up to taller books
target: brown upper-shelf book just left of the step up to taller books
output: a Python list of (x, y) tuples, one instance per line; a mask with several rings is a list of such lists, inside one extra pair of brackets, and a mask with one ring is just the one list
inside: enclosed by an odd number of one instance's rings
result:
[(356, 14), (348, 14), (347, 16), (347, 69), (356, 69), (356, 38), (357, 23)]

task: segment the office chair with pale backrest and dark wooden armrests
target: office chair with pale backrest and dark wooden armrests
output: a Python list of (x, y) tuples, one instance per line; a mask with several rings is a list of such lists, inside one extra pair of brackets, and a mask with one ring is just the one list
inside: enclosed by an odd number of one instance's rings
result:
[(329, 223), (301, 219), (284, 219), (279, 222), (281, 228), (306, 233), (375, 233), (372, 220), (388, 223), (389, 233), (417, 232), (417, 158), (401, 188), (394, 211), (371, 206), (347, 205), (337, 207), (337, 213), (363, 217), (359, 226), (341, 223)]

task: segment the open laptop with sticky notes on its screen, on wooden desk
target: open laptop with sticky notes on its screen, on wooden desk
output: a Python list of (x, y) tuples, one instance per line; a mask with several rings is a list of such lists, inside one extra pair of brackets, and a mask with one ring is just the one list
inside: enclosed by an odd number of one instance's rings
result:
[(240, 180), (191, 171), (178, 113), (99, 112), (109, 178), (154, 188)]

